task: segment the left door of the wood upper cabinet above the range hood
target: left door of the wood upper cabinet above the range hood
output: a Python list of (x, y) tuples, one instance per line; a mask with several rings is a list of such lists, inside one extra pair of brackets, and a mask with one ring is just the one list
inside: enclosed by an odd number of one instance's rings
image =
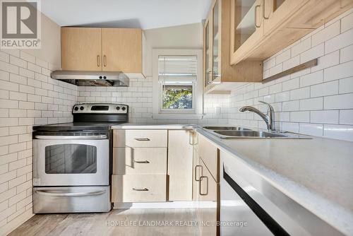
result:
[(102, 70), (101, 28), (61, 28), (61, 68)]

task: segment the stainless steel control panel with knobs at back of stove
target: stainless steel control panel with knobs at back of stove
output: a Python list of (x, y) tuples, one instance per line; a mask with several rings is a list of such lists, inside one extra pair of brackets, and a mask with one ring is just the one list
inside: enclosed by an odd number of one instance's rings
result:
[(118, 103), (82, 103), (73, 106), (73, 114), (80, 113), (104, 113), (104, 114), (127, 114), (128, 105)]

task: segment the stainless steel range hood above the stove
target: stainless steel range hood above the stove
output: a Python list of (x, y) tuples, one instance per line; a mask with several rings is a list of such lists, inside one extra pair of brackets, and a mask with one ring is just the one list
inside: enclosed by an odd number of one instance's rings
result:
[(54, 71), (50, 76), (78, 86), (128, 87), (129, 83), (128, 76), (120, 71)]

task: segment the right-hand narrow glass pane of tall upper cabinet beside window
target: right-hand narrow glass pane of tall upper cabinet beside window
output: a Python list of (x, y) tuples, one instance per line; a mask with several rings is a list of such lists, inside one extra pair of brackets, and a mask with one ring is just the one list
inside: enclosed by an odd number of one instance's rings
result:
[(215, 2), (212, 15), (212, 80), (220, 77), (220, 1)]

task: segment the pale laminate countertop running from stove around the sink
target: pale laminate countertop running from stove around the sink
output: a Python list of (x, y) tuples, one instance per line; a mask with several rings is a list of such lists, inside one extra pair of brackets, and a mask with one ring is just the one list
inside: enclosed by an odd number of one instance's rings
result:
[(318, 137), (222, 139), (193, 124), (122, 124), (113, 129), (194, 129), (301, 206), (353, 235), (353, 142)]

